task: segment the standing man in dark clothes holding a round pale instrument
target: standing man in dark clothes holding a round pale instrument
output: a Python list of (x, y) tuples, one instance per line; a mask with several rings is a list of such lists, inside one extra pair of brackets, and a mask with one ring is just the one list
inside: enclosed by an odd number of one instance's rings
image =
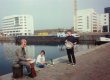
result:
[(74, 45), (76, 44), (76, 39), (72, 36), (72, 31), (67, 31), (67, 37), (65, 40), (65, 46), (67, 50), (69, 64), (75, 65), (76, 59), (74, 55)]

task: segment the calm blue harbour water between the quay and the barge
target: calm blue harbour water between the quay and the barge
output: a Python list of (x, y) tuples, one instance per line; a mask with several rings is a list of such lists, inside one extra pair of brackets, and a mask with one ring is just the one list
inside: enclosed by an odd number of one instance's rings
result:
[[(12, 63), (15, 60), (15, 51), (19, 45), (15, 43), (0, 43), (0, 75), (12, 72)], [(94, 45), (77, 45), (75, 51), (83, 51), (92, 48)], [(66, 55), (64, 45), (28, 45), (28, 56), (36, 59), (41, 50), (46, 52), (46, 60), (55, 59)]]

